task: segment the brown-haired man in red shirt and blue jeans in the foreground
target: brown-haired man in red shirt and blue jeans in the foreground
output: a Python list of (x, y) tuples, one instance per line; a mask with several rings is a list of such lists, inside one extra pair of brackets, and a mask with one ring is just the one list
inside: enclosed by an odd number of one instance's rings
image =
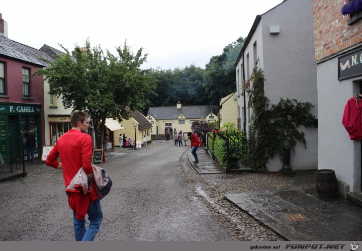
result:
[[(71, 126), (68, 132), (64, 133), (50, 151), (46, 165), (63, 170), (65, 187), (68, 187), (78, 170), (83, 167), (84, 171), (93, 184), (93, 169), (90, 162), (92, 153), (92, 141), (90, 135), (85, 134), (89, 127), (89, 115), (84, 111), (75, 111), (71, 115)], [(60, 156), (61, 162), (57, 161)], [(90, 225), (87, 229), (84, 217), (79, 217), (73, 209), (74, 234), (76, 241), (92, 241), (98, 233), (103, 220), (100, 201), (96, 196), (83, 193), (67, 193), (69, 205), (76, 204), (75, 201), (87, 202), (87, 214)], [(85, 203), (78, 203), (79, 205)], [(83, 210), (80, 209), (80, 210)]]

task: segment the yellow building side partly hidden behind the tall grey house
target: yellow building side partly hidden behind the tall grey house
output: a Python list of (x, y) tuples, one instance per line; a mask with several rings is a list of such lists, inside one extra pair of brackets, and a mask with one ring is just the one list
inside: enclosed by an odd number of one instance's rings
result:
[(230, 95), (227, 95), (226, 97), (221, 98), (219, 105), (220, 128), (227, 123), (233, 123), (237, 128), (237, 107), (238, 103), (236, 91)]

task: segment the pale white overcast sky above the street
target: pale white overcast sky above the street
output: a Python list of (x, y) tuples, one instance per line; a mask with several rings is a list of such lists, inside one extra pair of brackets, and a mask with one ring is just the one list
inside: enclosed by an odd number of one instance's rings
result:
[(40, 49), (69, 51), (77, 43), (116, 54), (124, 40), (148, 53), (142, 68), (205, 67), (240, 36), (256, 15), (282, 0), (1, 0), (8, 38)]

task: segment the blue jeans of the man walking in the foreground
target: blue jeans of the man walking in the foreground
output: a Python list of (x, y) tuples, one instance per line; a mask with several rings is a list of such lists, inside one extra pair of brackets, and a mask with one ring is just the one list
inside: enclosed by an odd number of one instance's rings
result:
[(94, 200), (90, 202), (88, 211), (88, 220), (90, 221), (89, 228), (86, 227), (86, 219), (83, 221), (76, 218), (76, 212), (73, 211), (74, 221), (74, 235), (76, 241), (93, 241), (95, 235), (98, 233), (100, 223), (103, 220), (102, 208), (100, 207), (100, 201)]

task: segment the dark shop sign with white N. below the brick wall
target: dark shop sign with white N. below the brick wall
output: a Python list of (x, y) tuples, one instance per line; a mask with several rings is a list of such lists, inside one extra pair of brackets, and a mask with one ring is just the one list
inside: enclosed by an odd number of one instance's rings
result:
[(338, 80), (362, 75), (362, 48), (338, 58)]

